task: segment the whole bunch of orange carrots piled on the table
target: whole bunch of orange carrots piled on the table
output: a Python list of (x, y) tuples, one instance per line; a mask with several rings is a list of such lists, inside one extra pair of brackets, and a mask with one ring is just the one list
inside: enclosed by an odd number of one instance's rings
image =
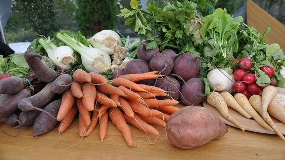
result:
[(110, 119), (122, 132), (130, 147), (132, 139), (129, 124), (146, 133), (159, 135), (156, 124), (165, 127), (170, 115), (179, 110), (173, 99), (158, 100), (156, 96), (168, 96), (166, 91), (151, 85), (136, 83), (139, 80), (161, 77), (158, 72), (128, 74), (108, 80), (99, 73), (87, 73), (78, 69), (73, 73), (74, 82), (62, 95), (57, 114), (61, 121), (59, 133), (63, 133), (78, 113), (79, 135), (90, 135), (98, 123), (101, 141), (106, 136)]

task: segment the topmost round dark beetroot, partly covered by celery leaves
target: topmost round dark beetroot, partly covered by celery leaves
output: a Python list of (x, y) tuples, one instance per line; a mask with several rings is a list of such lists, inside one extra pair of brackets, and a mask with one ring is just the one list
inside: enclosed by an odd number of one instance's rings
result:
[(159, 53), (159, 48), (156, 46), (152, 49), (146, 49), (147, 43), (142, 42), (137, 47), (137, 56), (138, 59), (144, 60), (146, 63), (149, 63), (150, 59), (157, 53)]

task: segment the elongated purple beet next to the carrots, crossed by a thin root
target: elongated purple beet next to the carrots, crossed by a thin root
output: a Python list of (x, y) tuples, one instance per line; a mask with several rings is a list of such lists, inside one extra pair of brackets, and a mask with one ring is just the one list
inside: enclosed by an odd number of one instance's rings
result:
[[(56, 117), (60, 104), (61, 99), (54, 100), (50, 102), (44, 110), (51, 116)], [(39, 114), (33, 125), (34, 137), (45, 134), (55, 127), (57, 120), (50, 117), (50, 115), (47, 115), (45, 112)]]

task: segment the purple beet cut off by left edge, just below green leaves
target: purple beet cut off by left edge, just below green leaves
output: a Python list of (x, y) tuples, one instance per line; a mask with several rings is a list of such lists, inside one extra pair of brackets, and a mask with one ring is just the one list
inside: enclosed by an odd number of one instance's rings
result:
[(15, 94), (25, 88), (25, 80), (20, 77), (8, 77), (0, 80), (0, 94)]

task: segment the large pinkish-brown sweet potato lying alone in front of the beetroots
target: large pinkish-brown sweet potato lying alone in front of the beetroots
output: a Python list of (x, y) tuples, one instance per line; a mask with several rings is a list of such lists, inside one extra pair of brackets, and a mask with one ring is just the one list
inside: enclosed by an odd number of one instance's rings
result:
[(202, 146), (222, 138), (228, 126), (211, 110), (199, 106), (186, 106), (173, 113), (166, 123), (168, 139), (181, 149)]

